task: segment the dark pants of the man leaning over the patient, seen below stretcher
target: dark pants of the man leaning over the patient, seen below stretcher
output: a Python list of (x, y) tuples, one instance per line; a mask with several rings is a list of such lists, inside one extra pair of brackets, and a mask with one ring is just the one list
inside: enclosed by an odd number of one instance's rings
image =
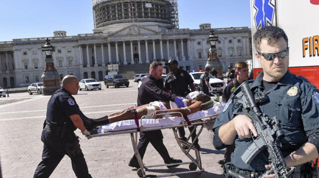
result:
[[(168, 162), (170, 160), (170, 156), (168, 154), (168, 151), (165, 145), (163, 144), (163, 135), (160, 130), (140, 132), (138, 150), (142, 159), (146, 152), (146, 148), (150, 142), (153, 145), (153, 147), (156, 149), (156, 151), (159, 152), (164, 162)], [(133, 156), (131, 160), (137, 160), (135, 155)]]

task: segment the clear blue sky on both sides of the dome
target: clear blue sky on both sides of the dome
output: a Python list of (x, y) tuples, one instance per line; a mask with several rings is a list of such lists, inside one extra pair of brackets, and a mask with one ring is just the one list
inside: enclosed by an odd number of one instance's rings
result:
[[(200, 23), (219, 27), (251, 27), (250, 0), (178, 0), (179, 28)], [(1, 0), (0, 41), (15, 38), (92, 33), (91, 0)]]

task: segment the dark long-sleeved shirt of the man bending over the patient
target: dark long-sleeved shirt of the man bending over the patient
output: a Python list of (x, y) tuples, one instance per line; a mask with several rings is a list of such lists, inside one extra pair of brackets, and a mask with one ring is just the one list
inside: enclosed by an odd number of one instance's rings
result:
[(157, 100), (174, 100), (176, 96), (164, 91), (163, 80), (156, 80), (149, 75), (139, 89), (138, 106), (148, 104)]

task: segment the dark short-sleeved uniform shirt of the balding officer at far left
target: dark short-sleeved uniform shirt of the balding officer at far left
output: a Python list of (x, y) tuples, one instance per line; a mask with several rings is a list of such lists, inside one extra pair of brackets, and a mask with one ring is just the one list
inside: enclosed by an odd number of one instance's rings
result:
[(70, 119), (73, 114), (80, 114), (80, 108), (74, 97), (66, 89), (56, 90), (47, 105), (46, 124), (50, 125), (51, 122), (55, 122), (57, 125), (62, 126), (66, 122), (68, 129), (76, 130)]

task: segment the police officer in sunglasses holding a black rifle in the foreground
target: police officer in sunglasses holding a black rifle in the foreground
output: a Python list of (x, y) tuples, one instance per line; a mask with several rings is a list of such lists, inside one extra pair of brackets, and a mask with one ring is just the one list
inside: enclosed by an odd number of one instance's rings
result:
[[(267, 26), (254, 34), (255, 56), (263, 68), (255, 81), (247, 81), (253, 95), (264, 99), (257, 104), (269, 117), (277, 116), (285, 137), (281, 151), (287, 166), (301, 165), (302, 178), (312, 178), (308, 162), (318, 157), (319, 149), (319, 90), (305, 78), (297, 77), (288, 70), (289, 47), (285, 32), (275, 26)], [(235, 143), (231, 167), (239, 174), (263, 174), (269, 167), (267, 149), (262, 150), (250, 164), (241, 156), (259, 133), (251, 118), (246, 116), (231, 97), (213, 126), (216, 149)], [(267, 166), (265, 166), (267, 165)], [(298, 166), (299, 167), (299, 166)], [(225, 167), (224, 167), (225, 168)], [(294, 176), (298, 176), (296, 173)], [(264, 178), (274, 178), (265, 175)], [(295, 177), (294, 177), (295, 178)]]

